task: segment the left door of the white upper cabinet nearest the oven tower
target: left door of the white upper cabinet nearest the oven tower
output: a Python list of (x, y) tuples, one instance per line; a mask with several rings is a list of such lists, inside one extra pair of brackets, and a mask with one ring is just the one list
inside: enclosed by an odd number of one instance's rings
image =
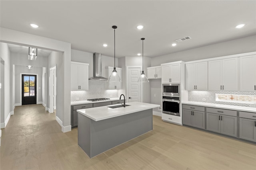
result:
[(185, 76), (186, 76), (186, 82), (185, 82), (185, 86), (186, 86), (186, 90), (195, 90), (195, 70), (196, 70), (196, 64), (192, 63), (192, 64), (186, 64), (186, 68), (185, 68)]

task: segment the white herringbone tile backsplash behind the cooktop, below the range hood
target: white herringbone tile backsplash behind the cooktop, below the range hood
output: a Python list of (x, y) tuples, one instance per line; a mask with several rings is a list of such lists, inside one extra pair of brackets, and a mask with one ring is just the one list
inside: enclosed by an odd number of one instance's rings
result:
[(71, 91), (71, 102), (95, 98), (118, 98), (118, 90), (106, 90), (106, 81), (89, 80), (89, 90)]

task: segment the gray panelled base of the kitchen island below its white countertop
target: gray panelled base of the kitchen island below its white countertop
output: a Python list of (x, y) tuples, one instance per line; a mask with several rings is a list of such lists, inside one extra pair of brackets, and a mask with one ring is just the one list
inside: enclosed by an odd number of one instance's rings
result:
[(78, 114), (78, 145), (92, 158), (153, 129), (152, 109), (94, 121)]

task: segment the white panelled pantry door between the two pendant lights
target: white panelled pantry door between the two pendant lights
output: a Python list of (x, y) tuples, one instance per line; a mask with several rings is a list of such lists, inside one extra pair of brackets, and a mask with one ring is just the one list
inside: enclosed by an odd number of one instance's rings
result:
[(138, 67), (127, 67), (127, 102), (140, 102), (140, 82), (138, 82), (138, 79), (140, 78), (140, 70), (141, 68)]

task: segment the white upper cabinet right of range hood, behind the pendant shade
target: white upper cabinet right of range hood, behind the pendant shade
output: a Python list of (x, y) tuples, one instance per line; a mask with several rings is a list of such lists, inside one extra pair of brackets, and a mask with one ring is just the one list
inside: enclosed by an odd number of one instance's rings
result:
[[(109, 76), (112, 74), (113, 70), (114, 70), (114, 67), (111, 67), (111, 66), (106, 67), (106, 78), (109, 78)], [(116, 71), (117, 71), (118, 76), (122, 80), (122, 68), (116, 67)], [(106, 89), (109, 89), (109, 90), (122, 89), (122, 82), (107, 82), (106, 81)]]

